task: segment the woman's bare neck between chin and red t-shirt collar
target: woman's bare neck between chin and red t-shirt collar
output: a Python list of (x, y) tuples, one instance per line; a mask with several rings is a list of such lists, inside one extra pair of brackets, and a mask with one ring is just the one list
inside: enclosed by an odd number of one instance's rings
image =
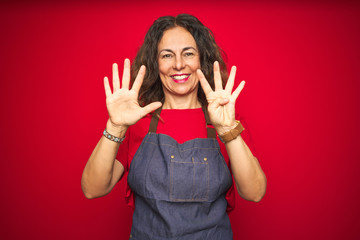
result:
[(197, 95), (190, 96), (174, 96), (165, 94), (163, 109), (194, 109), (201, 108)]

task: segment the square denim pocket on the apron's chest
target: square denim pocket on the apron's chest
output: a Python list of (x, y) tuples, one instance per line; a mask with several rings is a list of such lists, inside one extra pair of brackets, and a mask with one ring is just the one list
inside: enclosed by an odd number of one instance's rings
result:
[(170, 200), (204, 202), (209, 198), (209, 164), (206, 158), (170, 159)]

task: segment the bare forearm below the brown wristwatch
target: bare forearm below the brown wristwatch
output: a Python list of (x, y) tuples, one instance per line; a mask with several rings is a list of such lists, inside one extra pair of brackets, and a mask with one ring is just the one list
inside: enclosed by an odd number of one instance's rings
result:
[(258, 202), (266, 191), (266, 177), (258, 160), (239, 135), (225, 144), (239, 195)]

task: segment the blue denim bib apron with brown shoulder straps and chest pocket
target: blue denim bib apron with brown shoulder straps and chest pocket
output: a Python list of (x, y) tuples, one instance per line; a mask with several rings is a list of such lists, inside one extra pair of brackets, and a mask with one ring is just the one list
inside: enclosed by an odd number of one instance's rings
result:
[(231, 240), (225, 195), (232, 177), (215, 129), (206, 125), (208, 138), (179, 144), (156, 133), (155, 115), (130, 165), (128, 184), (135, 194), (130, 239)]

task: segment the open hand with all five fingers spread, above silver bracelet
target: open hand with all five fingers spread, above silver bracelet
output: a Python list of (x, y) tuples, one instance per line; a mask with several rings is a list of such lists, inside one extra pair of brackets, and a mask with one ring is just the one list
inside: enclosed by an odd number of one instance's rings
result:
[[(113, 64), (113, 91), (111, 91), (109, 79), (104, 78), (106, 107), (109, 113), (108, 124), (112, 129), (127, 129), (130, 125), (135, 124), (146, 114), (156, 110), (161, 106), (161, 102), (153, 102), (141, 107), (138, 102), (139, 90), (144, 80), (146, 68), (142, 65), (135, 78), (134, 84), (130, 86), (130, 60), (125, 59), (122, 82), (120, 86), (120, 78), (118, 66)], [(110, 126), (107, 126), (110, 127)], [(108, 129), (109, 130), (109, 129)]]

